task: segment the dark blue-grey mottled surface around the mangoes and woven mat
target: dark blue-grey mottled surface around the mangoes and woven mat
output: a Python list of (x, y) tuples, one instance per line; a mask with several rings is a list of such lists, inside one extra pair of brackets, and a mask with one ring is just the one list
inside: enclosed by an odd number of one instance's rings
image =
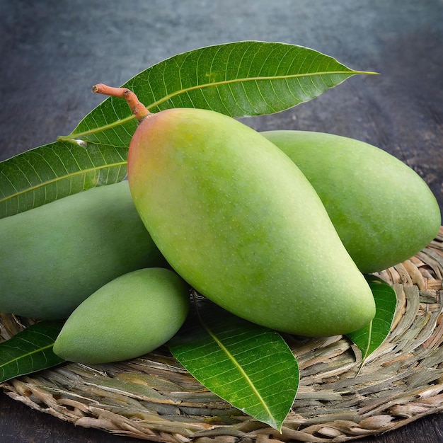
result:
[[(0, 160), (68, 134), (103, 97), (178, 52), (236, 40), (312, 47), (356, 76), (316, 100), (243, 120), (355, 137), (418, 171), (443, 207), (441, 0), (0, 0)], [(435, 415), (374, 442), (439, 442)], [(0, 393), (0, 441), (134, 442), (74, 428)]]

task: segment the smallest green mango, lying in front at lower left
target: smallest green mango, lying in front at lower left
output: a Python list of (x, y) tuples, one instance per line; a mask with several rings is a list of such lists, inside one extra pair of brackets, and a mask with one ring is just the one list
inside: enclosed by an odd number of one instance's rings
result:
[(54, 352), (71, 362), (109, 363), (147, 354), (185, 322), (190, 287), (176, 272), (129, 272), (94, 292), (71, 313)]

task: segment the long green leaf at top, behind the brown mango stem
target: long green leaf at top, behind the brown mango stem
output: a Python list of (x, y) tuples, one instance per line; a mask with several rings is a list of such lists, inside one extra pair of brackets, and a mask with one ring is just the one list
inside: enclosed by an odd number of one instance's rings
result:
[[(177, 54), (123, 86), (151, 112), (204, 108), (231, 117), (277, 113), (316, 98), (355, 74), (333, 57), (308, 47), (243, 41)], [(71, 136), (127, 146), (136, 122), (121, 98), (107, 98)]]

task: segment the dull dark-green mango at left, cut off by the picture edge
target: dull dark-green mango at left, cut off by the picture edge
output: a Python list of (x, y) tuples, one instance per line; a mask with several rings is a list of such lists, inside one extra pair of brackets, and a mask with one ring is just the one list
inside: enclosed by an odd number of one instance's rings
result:
[(0, 220), (0, 311), (67, 318), (103, 284), (165, 263), (127, 181)]

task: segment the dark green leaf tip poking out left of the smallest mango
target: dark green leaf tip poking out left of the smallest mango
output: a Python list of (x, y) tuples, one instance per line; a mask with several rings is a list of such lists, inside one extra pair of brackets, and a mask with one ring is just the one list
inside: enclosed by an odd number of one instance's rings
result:
[(63, 323), (40, 321), (0, 343), (0, 383), (62, 363), (52, 346)]

